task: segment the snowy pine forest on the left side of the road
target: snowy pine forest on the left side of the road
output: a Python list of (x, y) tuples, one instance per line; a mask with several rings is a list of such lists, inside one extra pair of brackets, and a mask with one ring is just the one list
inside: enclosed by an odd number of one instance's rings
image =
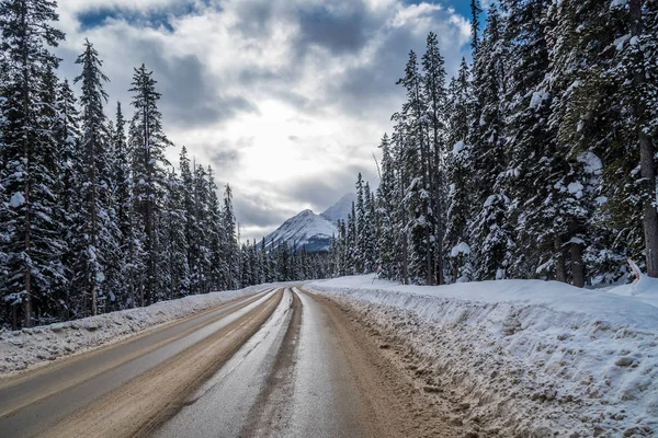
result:
[(164, 299), (325, 276), (326, 256), (240, 243), (229, 185), (182, 147), (172, 164), (154, 72), (141, 65), (114, 120), (89, 41), (57, 76), (56, 2), (0, 3), (0, 328)]

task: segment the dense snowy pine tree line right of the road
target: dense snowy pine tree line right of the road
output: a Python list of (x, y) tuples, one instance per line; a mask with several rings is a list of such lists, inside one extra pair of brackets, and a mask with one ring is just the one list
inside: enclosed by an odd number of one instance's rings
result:
[(426, 285), (658, 277), (658, 2), (472, 0), (473, 61), (411, 51), (333, 275)]

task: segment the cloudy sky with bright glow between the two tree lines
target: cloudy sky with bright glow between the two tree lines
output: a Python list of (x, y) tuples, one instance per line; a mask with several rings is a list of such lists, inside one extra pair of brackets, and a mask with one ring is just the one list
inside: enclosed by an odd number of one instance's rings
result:
[(410, 49), (439, 35), (449, 74), (468, 57), (467, 0), (59, 0), (61, 72), (89, 38), (113, 117), (133, 67), (154, 70), (178, 163), (185, 145), (234, 187), (242, 238), (373, 186), (373, 153), (404, 93)]

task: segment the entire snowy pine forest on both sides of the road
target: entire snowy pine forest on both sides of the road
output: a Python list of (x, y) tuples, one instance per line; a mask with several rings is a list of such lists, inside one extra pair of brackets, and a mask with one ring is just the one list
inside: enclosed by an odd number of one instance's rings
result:
[(56, 2), (1, 2), (0, 326), (374, 272), (583, 287), (626, 281), (631, 260), (658, 277), (658, 1), (470, 5), (453, 78), (434, 33), (400, 66), (376, 189), (359, 175), (322, 254), (241, 243), (230, 186), (184, 147), (167, 159), (157, 72), (134, 69), (111, 119), (91, 42), (58, 77)]

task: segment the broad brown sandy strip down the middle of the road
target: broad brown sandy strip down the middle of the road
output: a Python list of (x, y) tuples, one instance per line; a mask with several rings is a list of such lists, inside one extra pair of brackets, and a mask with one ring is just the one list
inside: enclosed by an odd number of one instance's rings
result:
[(249, 339), (281, 301), (282, 290), (211, 336), (103, 395), (46, 430), (46, 437), (145, 436), (174, 415), (185, 399)]

